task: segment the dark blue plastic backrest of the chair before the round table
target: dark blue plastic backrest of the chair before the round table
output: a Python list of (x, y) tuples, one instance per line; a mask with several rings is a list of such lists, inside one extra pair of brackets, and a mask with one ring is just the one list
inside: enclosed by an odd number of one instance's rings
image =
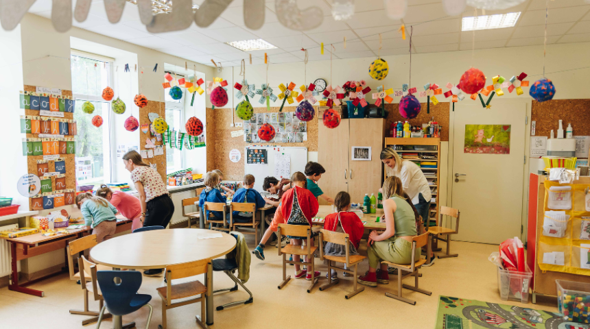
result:
[[(113, 315), (126, 315), (134, 311), (130, 307), (133, 296), (141, 287), (140, 271), (97, 271), (97, 280), (106, 308)], [(115, 278), (120, 280), (115, 283)]]

